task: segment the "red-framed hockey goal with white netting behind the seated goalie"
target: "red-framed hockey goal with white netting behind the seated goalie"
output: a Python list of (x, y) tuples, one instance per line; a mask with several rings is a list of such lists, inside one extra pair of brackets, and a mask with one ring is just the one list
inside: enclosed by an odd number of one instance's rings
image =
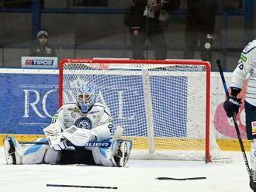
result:
[(210, 64), (195, 60), (67, 59), (59, 105), (91, 85), (114, 125), (133, 141), (134, 159), (222, 159), (210, 136)]

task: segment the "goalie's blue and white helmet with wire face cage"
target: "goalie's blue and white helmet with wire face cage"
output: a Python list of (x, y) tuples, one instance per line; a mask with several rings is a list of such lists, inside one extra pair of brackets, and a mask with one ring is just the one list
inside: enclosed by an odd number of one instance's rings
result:
[(77, 102), (83, 113), (89, 111), (96, 101), (96, 92), (93, 87), (80, 87), (77, 92)]

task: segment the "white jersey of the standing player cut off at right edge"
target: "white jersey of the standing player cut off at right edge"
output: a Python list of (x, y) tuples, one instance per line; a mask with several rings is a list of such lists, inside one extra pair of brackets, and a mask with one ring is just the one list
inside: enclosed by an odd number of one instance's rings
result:
[(256, 40), (244, 47), (234, 70), (230, 87), (242, 88), (244, 79), (248, 77), (245, 100), (256, 106)]

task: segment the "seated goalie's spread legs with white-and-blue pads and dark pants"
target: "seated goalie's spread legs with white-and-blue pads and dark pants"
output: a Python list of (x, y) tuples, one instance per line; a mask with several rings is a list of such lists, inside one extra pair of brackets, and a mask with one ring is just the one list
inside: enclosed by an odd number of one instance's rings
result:
[[(110, 147), (74, 147), (55, 151), (47, 144), (47, 139), (37, 139), (41, 144), (20, 144), (16, 138), (4, 139), (5, 159), (7, 164), (88, 164), (100, 166), (125, 166), (132, 143), (129, 140), (111, 141)], [(35, 143), (35, 142), (34, 142)], [(108, 143), (108, 142), (103, 142)], [(99, 144), (99, 142), (98, 142)]]

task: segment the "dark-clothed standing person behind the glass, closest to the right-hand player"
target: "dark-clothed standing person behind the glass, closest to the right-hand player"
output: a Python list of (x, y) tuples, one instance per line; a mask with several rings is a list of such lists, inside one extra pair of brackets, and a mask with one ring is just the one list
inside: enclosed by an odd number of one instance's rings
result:
[(211, 61), (216, 9), (216, 0), (187, 0), (185, 59), (194, 57), (199, 43), (202, 60)]

